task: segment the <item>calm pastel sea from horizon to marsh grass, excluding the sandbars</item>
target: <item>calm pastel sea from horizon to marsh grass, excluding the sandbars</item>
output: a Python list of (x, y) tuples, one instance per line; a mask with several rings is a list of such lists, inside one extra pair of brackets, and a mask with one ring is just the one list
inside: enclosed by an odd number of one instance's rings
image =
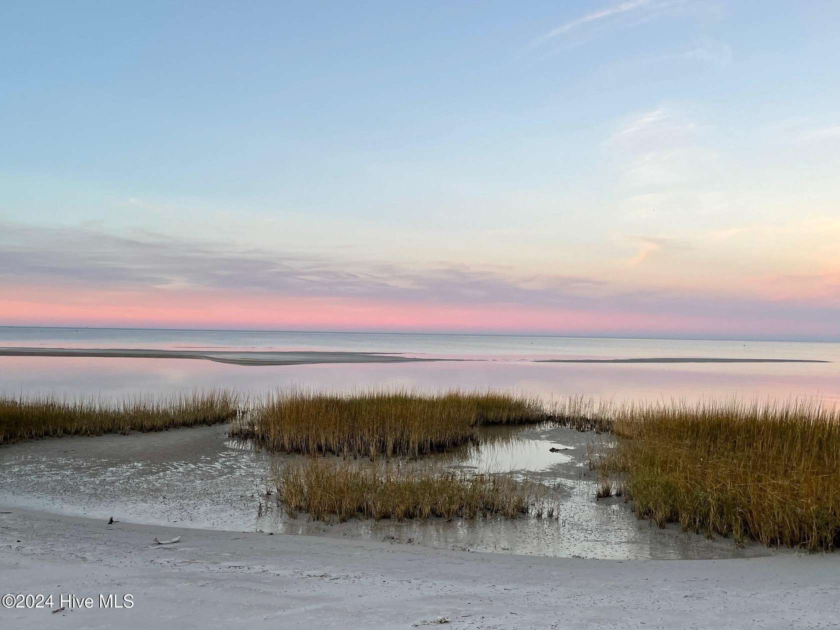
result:
[[(7, 395), (122, 396), (230, 387), (500, 388), (617, 402), (740, 396), (840, 402), (840, 344), (466, 334), (0, 327), (0, 348), (374, 352), (432, 362), (229, 365), (186, 358), (0, 356)], [(819, 363), (546, 363), (545, 360), (807, 360)]]

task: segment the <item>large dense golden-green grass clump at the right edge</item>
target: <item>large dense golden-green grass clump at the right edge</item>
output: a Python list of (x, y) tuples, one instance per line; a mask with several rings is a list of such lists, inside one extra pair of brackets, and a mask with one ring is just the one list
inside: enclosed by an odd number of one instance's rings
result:
[(618, 460), (660, 527), (809, 550), (840, 543), (840, 414), (815, 402), (625, 408)]

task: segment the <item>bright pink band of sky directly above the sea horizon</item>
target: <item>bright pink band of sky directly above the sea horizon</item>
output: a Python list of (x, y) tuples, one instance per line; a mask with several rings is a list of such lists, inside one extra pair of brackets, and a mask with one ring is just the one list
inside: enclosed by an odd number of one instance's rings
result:
[(554, 333), (778, 337), (805, 324), (814, 336), (832, 325), (801, 318), (619, 312), (512, 303), (434, 304), (354, 297), (281, 297), (248, 291), (88, 290), (6, 287), (6, 325), (121, 328), (251, 328), (395, 332)]

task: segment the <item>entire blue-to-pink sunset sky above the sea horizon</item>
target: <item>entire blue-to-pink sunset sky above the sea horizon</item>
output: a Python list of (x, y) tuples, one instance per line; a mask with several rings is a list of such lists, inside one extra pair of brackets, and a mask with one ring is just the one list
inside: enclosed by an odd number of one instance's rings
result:
[(0, 325), (840, 340), (840, 3), (0, 5)]

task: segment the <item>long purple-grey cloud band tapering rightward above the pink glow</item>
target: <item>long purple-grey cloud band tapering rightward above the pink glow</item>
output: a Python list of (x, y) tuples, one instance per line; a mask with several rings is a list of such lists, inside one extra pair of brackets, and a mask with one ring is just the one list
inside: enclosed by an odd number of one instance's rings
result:
[(0, 223), (0, 281), (113, 290), (252, 291), (286, 297), (366, 297), (413, 302), (563, 304), (605, 282), (580, 276), (516, 278), (467, 265), (409, 269), (370, 260), (289, 255), (220, 243), (91, 228)]

